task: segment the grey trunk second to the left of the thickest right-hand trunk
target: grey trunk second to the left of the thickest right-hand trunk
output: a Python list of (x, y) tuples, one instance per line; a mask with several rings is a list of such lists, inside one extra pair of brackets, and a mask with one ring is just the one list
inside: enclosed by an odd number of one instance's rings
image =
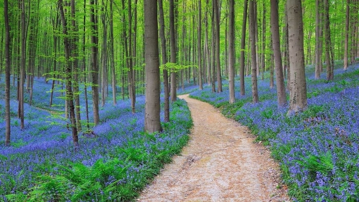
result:
[(251, 43), (251, 59), (252, 59), (252, 99), (253, 103), (258, 103), (257, 89), (257, 59), (255, 46), (255, 22), (254, 22), (254, 0), (249, 0), (249, 33)]

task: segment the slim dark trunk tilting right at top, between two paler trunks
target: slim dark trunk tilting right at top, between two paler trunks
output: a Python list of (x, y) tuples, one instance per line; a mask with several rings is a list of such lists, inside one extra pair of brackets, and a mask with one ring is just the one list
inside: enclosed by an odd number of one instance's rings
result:
[(242, 38), (241, 38), (241, 67), (240, 67), (240, 88), (241, 95), (245, 95), (245, 86), (244, 86), (244, 49), (246, 47), (246, 24), (247, 24), (247, 10), (248, 10), (248, 0), (244, 0), (243, 8), (243, 22), (242, 22)]

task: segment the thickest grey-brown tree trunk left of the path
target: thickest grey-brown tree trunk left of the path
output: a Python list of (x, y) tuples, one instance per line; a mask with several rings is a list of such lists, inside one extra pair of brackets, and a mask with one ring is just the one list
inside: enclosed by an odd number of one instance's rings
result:
[(145, 0), (145, 64), (146, 64), (146, 104), (145, 131), (161, 131), (159, 120), (159, 58), (157, 1)]

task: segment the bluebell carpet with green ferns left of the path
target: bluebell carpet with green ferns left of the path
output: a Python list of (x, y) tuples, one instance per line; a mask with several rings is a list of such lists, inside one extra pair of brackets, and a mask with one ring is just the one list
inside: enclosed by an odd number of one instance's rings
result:
[[(68, 120), (58, 113), (64, 110), (61, 86), (56, 86), (54, 107), (50, 89), (43, 78), (34, 80), (32, 106), (25, 103), (25, 129), (20, 130), (11, 88), (11, 147), (0, 140), (0, 201), (132, 200), (189, 139), (192, 119), (184, 100), (171, 103), (171, 122), (162, 123), (163, 132), (148, 134), (143, 132), (145, 97), (139, 96), (134, 114), (129, 100), (116, 106), (108, 100), (100, 107), (99, 125), (87, 129), (83, 124), (81, 148), (74, 151)], [(0, 134), (5, 134), (3, 91), (0, 97)], [(81, 106), (85, 119), (83, 93)]]

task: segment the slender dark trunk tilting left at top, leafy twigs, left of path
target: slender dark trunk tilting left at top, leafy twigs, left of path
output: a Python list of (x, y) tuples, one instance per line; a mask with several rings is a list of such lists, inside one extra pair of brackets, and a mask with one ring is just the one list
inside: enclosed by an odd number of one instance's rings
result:
[(64, 46), (65, 46), (65, 69), (66, 69), (66, 99), (68, 100), (69, 105), (69, 111), (70, 111), (70, 121), (71, 121), (71, 129), (72, 129), (72, 139), (73, 144), (75, 147), (75, 151), (79, 149), (78, 144), (78, 135), (77, 135), (77, 127), (76, 127), (76, 117), (75, 117), (75, 107), (73, 104), (73, 92), (72, 92), (72, 76), (71, 76), (71, 62), (70, 62), (70, 43), (69, 43), (69, 34), (67, 31), (67, 22), (65, 19), (65, 13), (63, 8), (63, 1), (58, 0), (58, 6), (60, 10), (60, 16), (62, 21), (62, 27), (63, 27), (63, 34), (64, 34)]

